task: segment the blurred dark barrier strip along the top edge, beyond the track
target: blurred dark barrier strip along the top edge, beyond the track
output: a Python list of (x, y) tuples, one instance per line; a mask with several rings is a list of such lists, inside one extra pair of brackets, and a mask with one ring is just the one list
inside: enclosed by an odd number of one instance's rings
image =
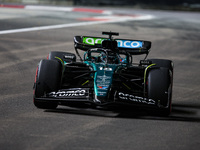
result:
[(0, 0), (0, 3), (68, 6), (126, 6), (142, 9), (200, 11), (200, 0)]

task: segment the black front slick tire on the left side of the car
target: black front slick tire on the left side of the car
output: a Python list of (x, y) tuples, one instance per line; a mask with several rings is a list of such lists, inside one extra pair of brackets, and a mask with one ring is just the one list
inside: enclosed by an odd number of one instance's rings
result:
[(55, 109), (58, 104), (39, 100), (46, 93), (57, 91), (60, 87), (61, 65), (55, 60), (41, 60), (35, 77), (34, 105), (42, 109)]

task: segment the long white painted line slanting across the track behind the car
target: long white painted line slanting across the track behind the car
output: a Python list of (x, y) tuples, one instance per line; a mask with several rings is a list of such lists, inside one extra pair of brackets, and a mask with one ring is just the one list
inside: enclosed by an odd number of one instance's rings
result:
[(40, 30), (69, 28), (69, 27), (86, 26), (86, 25), (95, 25), (95, 24), (126, 22), (126, 21), (134, 21), (134, 20), (150, 20), (153, 18), (154, 17), (152, 15), (145, 15), (145, 16), (139, 16), (139, 17), (128, 17), (128, 18), (121, 18), (121, 19), (116, 19), (116, 20), (114, 19), (114, 20), (107, 20), (107, 21), (78, 22), (78, 23), (70, 23), (70, 24), (49, 25), (49, 26), (30, 27), (30, 28), (22, 28), (22, 29), (11, 29), (11, 30), (0, 31), (0, 35), (11, 34), (11, 33), (21, 33), (21, 32), (40, 31)]

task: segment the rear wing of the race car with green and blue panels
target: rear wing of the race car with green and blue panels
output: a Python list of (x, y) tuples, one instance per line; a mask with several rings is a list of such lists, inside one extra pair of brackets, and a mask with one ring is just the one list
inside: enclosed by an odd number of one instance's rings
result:
[[(103, 48), (102, 42), (104, 40), (110, 40), (103, 37), (91, 37), (91, 36), (75, 36), (74, 47), (87, 51), (91, 48)], [(128, 52), (131, 55), (148, 54), (151, 48), (150, 41), (142, 40), (129, 40), (129, 39), (112, 39), (117, 42), (116, 49), (119, 52)]]

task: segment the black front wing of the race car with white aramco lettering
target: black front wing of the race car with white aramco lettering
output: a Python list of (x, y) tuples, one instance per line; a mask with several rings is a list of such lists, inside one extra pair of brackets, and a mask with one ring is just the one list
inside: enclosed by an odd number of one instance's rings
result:
[(37, 101), (54, 101), (60, 104), (83, 103), (96, 106), (106, 105), (129, 105), (139, 107), (160, 108), (159, 100), (148, 99), (145, 97), (134, 96), (124, 92), (116, 91), (114, 99), (104, 102), (95, 101), (93, 92), (89, 88), (63, 89), (57, 92), (50, 92), (43, 97), (35, 97)]

